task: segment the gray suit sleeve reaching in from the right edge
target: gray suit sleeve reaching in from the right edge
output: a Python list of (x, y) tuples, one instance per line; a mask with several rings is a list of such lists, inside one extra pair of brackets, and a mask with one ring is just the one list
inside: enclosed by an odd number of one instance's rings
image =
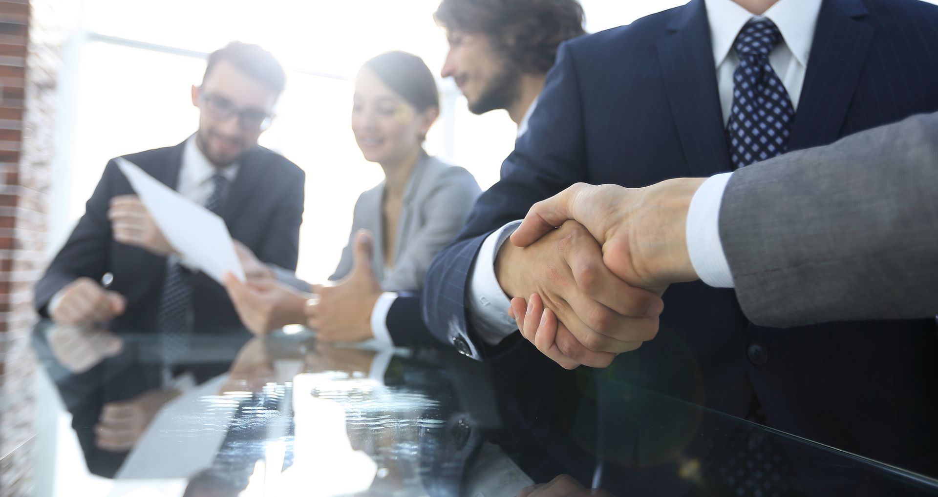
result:
[(770, 327), (938, 312), (938, 113), (734, 172), (719, 233)]

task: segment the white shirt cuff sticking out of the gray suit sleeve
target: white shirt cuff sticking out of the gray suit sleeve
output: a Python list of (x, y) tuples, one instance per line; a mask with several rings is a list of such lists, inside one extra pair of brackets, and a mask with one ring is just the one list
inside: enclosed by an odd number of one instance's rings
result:
[(688, 254), (690, 264), (703, 283), (718, 288), (733, 288), (733, 273), (719, 240), (719, 207), (732, 172), (711, 176), (690, 199), (688, 209)]

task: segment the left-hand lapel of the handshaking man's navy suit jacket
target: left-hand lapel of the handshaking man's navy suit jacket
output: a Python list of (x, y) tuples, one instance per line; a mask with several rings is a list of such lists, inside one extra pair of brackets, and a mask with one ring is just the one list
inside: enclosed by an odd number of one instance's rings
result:
[(692, 176), (730, 168), (717, 70), (703, 0), (692, 0), (658, 40), (658, 63)]

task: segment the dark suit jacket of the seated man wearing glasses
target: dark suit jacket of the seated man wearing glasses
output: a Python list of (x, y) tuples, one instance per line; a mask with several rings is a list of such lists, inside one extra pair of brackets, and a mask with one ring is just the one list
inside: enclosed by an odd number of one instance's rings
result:
[[(126, 155), (160, 182), (176, 188), (184, 143), (174, 147)], [(261, 260), (295, 270), (299, 225), (303, 217), (305, 173), (278, 153), (256, 147), (241, 160), (221, 210), (232, 238), (247, 245)], [(111, 198), (133, 189), (112, 160), (104, 168), (84, 215), (65, 246), (36, 285), (35, 305), (48, 316), (56, 292), (76, 278), (100, 280), (113, 274), (111, 290), (127, 298), (128, 308), (113, 327), (153, 329), (166, 258), (113, 240), (108, 209)], [(202, 272), (189, 274), (195, 310), (195, 329), (240, 326), (224, 288)]]

